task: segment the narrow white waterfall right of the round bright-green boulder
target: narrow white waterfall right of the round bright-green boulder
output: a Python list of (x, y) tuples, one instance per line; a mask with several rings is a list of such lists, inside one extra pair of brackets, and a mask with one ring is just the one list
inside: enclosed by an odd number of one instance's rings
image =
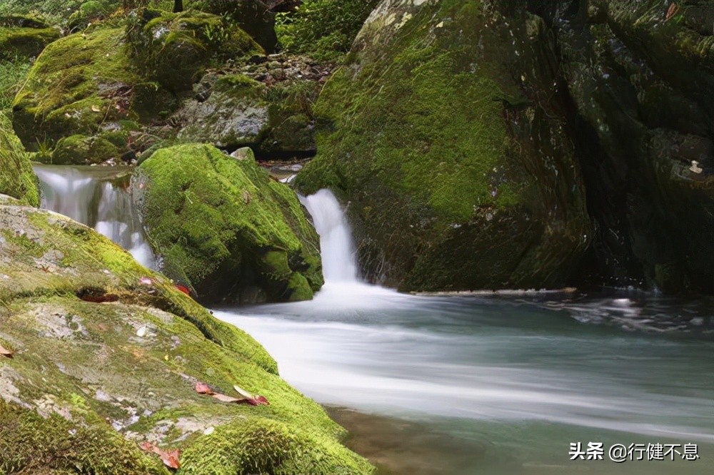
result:
[(340, 203), (330, 190), (302, 199), (320, 235), (322, 272), (326, 283), (356, 283), (358, 271), (352, 232)]

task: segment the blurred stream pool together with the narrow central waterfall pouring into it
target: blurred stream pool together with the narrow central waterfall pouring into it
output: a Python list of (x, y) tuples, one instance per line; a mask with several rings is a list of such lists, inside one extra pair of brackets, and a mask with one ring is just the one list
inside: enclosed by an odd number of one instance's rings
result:
[[(321, 235), (323, 290), (216, 316), (256, 337), (309, 397), (371, 414), (333, 411), (354, 449), (401, 474), (714, 473), (712, 302), (403, 295), (358, 280), (331, 193), (303, 203)], [(590, 442), (603, 460), (570, 461), (571, 443)], [(700, 458), (648, 461), (634, 446), (635, 460), (615, 463), (613, 444), (696, 444)]]

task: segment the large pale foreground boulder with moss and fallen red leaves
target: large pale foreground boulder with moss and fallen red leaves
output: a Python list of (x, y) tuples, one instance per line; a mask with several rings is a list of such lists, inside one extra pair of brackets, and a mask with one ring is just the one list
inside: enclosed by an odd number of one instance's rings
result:
[[(61, 215), (0, 197), (0, 472), (368, 474), (254, 339)], [(226, 404), (196, 382), (270, 405)]]

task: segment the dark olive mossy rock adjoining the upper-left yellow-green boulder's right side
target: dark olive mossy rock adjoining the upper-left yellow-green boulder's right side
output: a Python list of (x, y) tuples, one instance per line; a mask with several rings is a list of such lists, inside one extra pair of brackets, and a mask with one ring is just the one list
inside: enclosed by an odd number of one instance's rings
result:
[(221, 16), (196, 11), (133, 15), (127, 36), (134, 60), (147, 77), (174, 93), (191, 91), (211, 61), (264, 53), (250, 35)]

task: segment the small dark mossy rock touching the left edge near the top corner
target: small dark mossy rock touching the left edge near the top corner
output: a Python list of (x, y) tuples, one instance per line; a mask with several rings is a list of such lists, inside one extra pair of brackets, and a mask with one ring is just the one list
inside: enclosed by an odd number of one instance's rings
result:
[(16, 56), (35, 57), (59, 39), (59, 29), (31, 16), (0, 15), (0, 61)]

